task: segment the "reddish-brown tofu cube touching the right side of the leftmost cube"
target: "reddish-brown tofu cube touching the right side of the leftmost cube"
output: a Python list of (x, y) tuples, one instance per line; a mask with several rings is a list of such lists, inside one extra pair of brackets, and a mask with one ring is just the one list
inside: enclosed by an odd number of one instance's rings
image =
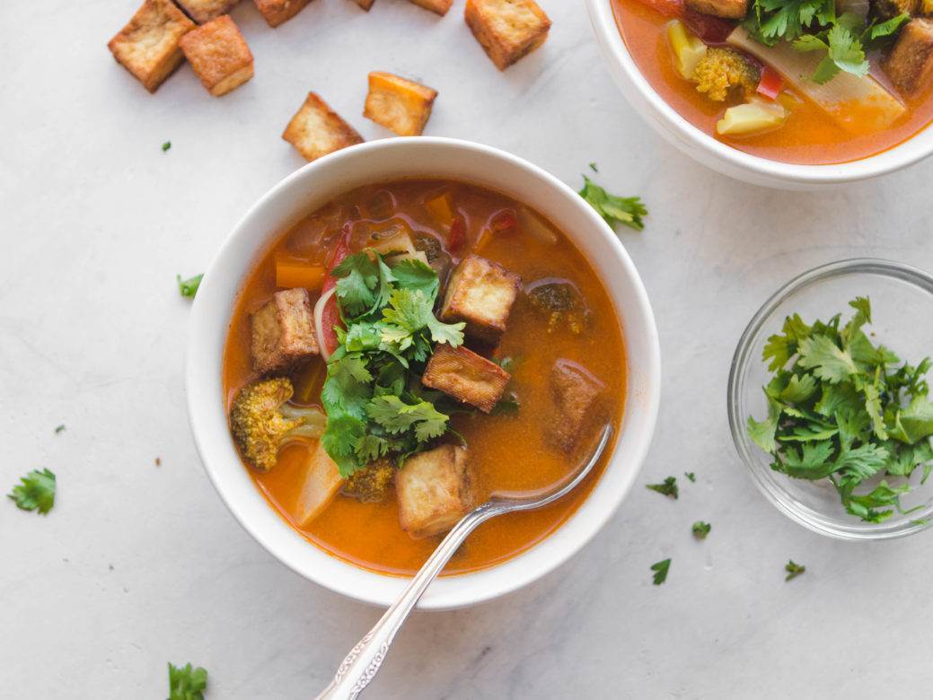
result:
[(202, 85), (215, 97), (226, 95), (253, 77), (253, 54), (230, 15), (182, 36), (181, 50)]

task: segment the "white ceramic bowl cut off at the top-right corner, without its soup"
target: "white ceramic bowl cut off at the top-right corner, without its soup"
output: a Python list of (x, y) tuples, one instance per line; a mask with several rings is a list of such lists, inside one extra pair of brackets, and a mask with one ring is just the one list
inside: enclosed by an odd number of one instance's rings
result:
[(782, 163), (732, 148), (694, 127), (655, 92), (622, 40), (610, 0), (586, 0), (586, 3), (609, 70), (628, 102), (670, 144), (717, 172), (756, 185), (813, 189), (894, 172), (933, 153), (930, 129), (870, 158), (835, 165)]

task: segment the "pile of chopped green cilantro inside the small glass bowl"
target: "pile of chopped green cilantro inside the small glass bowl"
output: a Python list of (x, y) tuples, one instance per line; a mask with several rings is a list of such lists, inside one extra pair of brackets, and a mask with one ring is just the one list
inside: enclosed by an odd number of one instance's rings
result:
[(905, 513), (900, 498), (918, 468), (921, 484), (933, 471), (931, 361), (903, 364), (876, 346), (863, 330), (869, 299), (849, 306), (855, 314), (844, 325), (841, 314), (813, 324), (795, 314), (768, 339), (768, 415), (749, 418), (747, 432), (773, 456), (774, 471), (829, 479), (849, 514), (880, 523)]

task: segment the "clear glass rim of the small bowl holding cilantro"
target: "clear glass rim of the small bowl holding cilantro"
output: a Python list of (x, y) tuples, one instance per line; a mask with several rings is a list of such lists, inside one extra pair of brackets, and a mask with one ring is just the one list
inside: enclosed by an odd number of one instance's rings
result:
[[(876, 257), (856, 257), (837, 260), (835, 262), (825, 263), (815, 268), (801, 272), (801, 274), (781, 286), (773, 295), (771, 295), (761, 308), (752, 316), (751, 321), (745, 326), (742, 336), (736, 345), (735, 352), (732, 355), (732, 362), (729, 369), (729, 385), (727, 388), (727, 407), (729, 413), (729, 429), (732, 436), (732, 444), (739, 455), (739, 459), (745, 464), (748, 473), (751, 474), (752, 481), (758, 487), (765, 499), (773, 504), (781, 513), (787, 515), (794, 522), (802, 525), (820, 535), (826, 535), (836, 540), (845, 542), (868, 542), (893, 540), (899, 537), (906, 537), (916, 532), (920, 532), (933, 526), (933, 519), (926, 524), (917, 524), (909, 522), (907, 527), (903, 525), (897, 528), (886, 526), (884, 523), (873, 527), (843, 528), (831, 526), (828, 523), (817, 521), (807, 517), (799, 508), (794, 505), (794, 501), (788, 498), (779, 487), (773, 487), (760, 473), (752, 458), (752, 452), (759, 449), (747, 437), (745, 432), (745, 417), (739, 415), (740, 394), (742, 392), (742, 382), (739, 380), (744, 373), (745, 367), (752, 362), (761, 362), (756, 356), (753, 346), (753, 340), (759, 335), (761, 327), (773, 318), (774, 312), (793, 295), (797, 295), (812, 285), (838, 277), (844, 277), (851, 274), (873, 274), (883, 277), (905, 281), (915, 287), (921, 288), (927, 294), (933, 297), (933, 275), (926, 270), (915, 268), (912, 265), (900, 263), (895, 260), (887, 260)], [(788, 477), (789, 478), (789, 477)]]

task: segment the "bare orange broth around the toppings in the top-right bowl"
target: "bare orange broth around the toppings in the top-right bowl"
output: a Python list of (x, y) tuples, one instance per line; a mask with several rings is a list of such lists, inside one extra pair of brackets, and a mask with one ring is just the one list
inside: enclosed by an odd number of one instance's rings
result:
[[(886, 151), (933, 120), (931, 86), (913, 95), (898, 95), (907, 109), (881, 130), (874, 128), (869, 119), (857, 117), (855, 124), (843, 128), (800, 90), (786, 86), (787, 100), (783, 102), (788, 106), (787, 120), (781, 128), (744, 136), (717, 135), (717, 122), (736, 101), (713, 102), (677, 72), (665, 36), (665, 25), (671, 18), (643, 0), (606, 1), (612, 3), (620, 34), (635, 65), (661, 98), (697, 129), (753, 156), (805, 165), (843, 163)], [(877, 57), (872, 60), (871, 75), (890, 88), (878, 70)]]

